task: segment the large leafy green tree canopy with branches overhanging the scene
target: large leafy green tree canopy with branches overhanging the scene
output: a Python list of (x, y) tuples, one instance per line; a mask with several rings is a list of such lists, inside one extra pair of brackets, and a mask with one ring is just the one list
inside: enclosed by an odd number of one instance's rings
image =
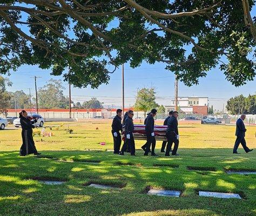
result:
[(254, 4), (0, 0), (0, 73), (38, 64), (74, 86), (98, 87), (108, 82), (109, 65), (130, 61), (135, 68), (145, 60), (166, 63), (188, 86), (219, 66), (239, 86), (255, 76)]

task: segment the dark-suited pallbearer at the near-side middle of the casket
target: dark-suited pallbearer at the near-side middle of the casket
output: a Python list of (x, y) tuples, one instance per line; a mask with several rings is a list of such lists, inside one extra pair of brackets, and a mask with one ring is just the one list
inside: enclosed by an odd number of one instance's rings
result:
[(154, 153), (154, 148), (156, 147), (156, 138), (154, 138), (154, 117), (156, 115), (157, 115), (157, 110), (152, 109), (149, 116), (146, 118), (145, 131), (147, 136), (147, 143), (146, 143), (147, 147), (146, 147), (144, 156), (149, 155), (151, 144), (152, 144), (151, 156), (157, 156), (157, 154)]

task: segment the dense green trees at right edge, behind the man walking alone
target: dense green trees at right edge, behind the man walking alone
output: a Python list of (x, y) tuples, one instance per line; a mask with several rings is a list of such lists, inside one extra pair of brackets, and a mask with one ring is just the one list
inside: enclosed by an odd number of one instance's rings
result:
[(256, 114), (256, 95), (235, 96), (227, 101), (227, 111), (231, 114)]

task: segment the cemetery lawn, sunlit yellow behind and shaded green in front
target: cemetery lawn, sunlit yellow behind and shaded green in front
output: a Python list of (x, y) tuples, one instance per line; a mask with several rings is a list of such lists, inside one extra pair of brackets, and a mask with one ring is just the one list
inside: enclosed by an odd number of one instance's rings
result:
[[(68, 126), (73, 134), (66, 133)], [(245, 153), (240, 147), (241, 154), (232, 154), (235, 126), (180, 122), (180, 156), (169, 158), (144, 157), (145, 141), (136, 141), (136, 157), (113, 155), (106, 151), (113, 148), (110, 130), (110, 122), (52, 127), (53, 137), (35, 137), (43, 158), (18, 156), (20, 129), (0, 131), (0, 215), (256, 215), (255, 175), (225, 173), (256, 171), (255, 150)], [(251, 149), (255, 130), (247, 126)], [(157, 153), (160, 147), (158, 141)], [(33, 179), (66, 182), (50, 186)], [(179, 190), (181, 197), (147, 195), (149, 188)], [(199, 197), (199, 190), (239, 193), (242, 200)]]

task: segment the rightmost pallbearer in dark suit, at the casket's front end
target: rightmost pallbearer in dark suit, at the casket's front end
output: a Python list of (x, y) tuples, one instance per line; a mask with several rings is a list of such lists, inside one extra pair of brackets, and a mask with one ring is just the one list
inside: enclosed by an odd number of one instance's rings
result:
[(172, 113), (172, 117), (168, 120), (168, 128), (166, 131), (166, 137), (167, 137), (167, 147), (166, 147), (166, 152), (165, 156), (170, 156), (170, 151), (172, 147), (172, 143), (174, 143), (174, 148), (172, 150), (172, 155), (178, 156), (177, 150), (179, 147), (179, 131), (178, 131), (178, 118), (179, 114), (178, 112), (174, 111)]

